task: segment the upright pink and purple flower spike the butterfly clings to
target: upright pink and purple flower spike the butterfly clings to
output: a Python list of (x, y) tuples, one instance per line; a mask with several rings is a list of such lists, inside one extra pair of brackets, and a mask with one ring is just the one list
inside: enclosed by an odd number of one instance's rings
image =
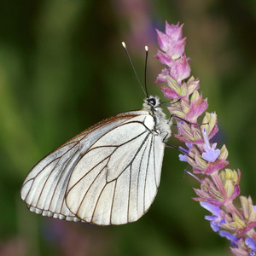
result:
[[(177, 134), (174, 136), (185, 143), (181, 148), (184, 154), (179, 159), (187, 161), (193, 169), (192, 177), (202, 174), (197, 180), (201, 189), (195, 189), (201, 207), (212, 213), (206, 216), (212, 230), (219, 236), (230, 240), (230, 251), (234, 255), (256, 255), (256, 207), (251, 197), (240, 196), (241, 206), (236, 207), (233, 201), (240, 195), (240, 170), (226, 168), (228, 150), (223, 145), (210, 143), (218, 132), (216, 113), (207, 113), (207, 99), (200, 93), (199, 79), (190, 76), (190, 59), (185, 54), (186, 38), (183, 38), (183, 25), (169, 25), (166, 21), (166, 32), (157, 32), (158, 49), (155, 58), (166, 67), (156, 79), (164, 95), (170, 99), (170, 113), (177, 122)], [(204, 114), (201, 125), (198, 118)], [(198, 125), (197, 125), (198, 124)], [(188, 171), (186, 171), (188, 172)]]

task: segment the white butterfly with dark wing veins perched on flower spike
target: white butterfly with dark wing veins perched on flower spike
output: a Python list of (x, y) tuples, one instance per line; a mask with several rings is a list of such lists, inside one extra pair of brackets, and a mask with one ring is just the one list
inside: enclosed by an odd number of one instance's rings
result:
[(29, 210), (99, 225), (141, 218), (157, 194), (171, 136), (160, 104), (146, 96), (142, 110), (104, 119), (40, 160), (20, 191)]

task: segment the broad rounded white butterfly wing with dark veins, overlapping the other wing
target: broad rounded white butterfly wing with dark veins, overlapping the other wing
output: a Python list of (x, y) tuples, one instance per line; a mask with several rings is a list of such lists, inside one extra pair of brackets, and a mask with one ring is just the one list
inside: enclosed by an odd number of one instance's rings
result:
[[(146, 120), (150, 127), (145, 125)], [(89, 148), (67, 187), (66, 202), (71, 212), (84, 221), (106, 225), (136, 221), (148, 210), (158, 187), (155, 165), (143, 164), (144, 158), (148, 160), (153, 154), (153, 127), (151, 115), (138, 115), (106, 133)], [(159, 139), (163, 151), (164, 144)]]

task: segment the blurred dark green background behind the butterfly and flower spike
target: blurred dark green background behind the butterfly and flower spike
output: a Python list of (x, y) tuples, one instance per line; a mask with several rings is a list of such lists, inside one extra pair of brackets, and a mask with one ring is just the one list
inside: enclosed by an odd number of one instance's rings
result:
[[(20, 199), (27, 172), (45, 154), (110, 115), (140, 109), (139, 88), (121, 41), (148, 90), (162, 68), (154, 28), (184, 23), (192, 73), (218, 147), (241, 169), (241, 195), (256, 201), (256, 3), (218, 0), (39, 0), (0, 3), (0, 255), (230, 255), (192, 201), (178, 152), (166, 148), (159, 193), (133, 224), (97, 227), (38, 216)], [(179, 145), (177, 140), (170, 143)]]

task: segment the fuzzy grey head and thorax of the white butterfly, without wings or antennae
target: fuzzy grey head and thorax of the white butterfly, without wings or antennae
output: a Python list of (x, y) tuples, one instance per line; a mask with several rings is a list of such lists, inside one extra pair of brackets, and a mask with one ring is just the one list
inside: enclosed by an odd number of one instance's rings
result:
[(171, 136), (172, 120), (166, 119), (166, 114), (160, 108), (161, 100), (158, 96), (148, 96), (144, 99), (143, 109), (147, 110), (154, 118), (154, 131), (165, 141)]

